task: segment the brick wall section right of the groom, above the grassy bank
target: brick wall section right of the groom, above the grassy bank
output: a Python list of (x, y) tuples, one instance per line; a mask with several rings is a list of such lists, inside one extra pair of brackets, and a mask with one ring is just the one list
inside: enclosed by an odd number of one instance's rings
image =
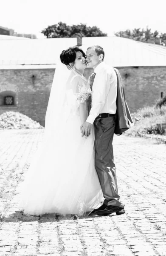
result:
[(166, 95), (166, 67), (120, 67), (127, 104), (131, 112), (154, 105), (160, 92)]

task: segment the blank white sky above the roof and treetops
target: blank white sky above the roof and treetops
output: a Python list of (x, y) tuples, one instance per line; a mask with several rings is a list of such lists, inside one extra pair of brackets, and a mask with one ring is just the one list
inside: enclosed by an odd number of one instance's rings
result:
[(119, 30), (149, 28), (166, 33), (166, 0), (0, 0), (0, 26), (45, 38), (42, 29), (59, 21)]

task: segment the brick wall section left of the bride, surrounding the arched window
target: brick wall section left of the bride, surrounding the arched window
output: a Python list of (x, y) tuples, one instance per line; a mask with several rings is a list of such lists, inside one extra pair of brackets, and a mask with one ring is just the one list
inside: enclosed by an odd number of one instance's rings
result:
[(54, 69), (0, 70), (0, 93), (14, 91), (17, 97), (17, 107), (0, 106), (0, 114), (18, 111), (43, 124), (53, 75)]

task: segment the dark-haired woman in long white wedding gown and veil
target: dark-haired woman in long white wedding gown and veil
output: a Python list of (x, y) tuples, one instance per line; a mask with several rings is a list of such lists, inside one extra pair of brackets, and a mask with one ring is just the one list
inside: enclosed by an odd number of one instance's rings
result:
[(94, 129), (82, 137), (90, 86), (83, 76), (86, 57), (79, 47), (63, 50), (45, 117), (44, 139), (21, 185), (25, 214), (87, 215), (102, 200), (94, 166)]

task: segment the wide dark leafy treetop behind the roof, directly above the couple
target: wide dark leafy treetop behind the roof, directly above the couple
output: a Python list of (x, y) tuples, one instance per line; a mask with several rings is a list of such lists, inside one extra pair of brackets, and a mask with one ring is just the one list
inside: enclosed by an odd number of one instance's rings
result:
[(103, 33), (97, 26), (90, 27), (83, 23), (69, 26), (63, 22), (48, 26), (42, 30), (42, 34), (47, 38), (107, 36), (107, 33)]

